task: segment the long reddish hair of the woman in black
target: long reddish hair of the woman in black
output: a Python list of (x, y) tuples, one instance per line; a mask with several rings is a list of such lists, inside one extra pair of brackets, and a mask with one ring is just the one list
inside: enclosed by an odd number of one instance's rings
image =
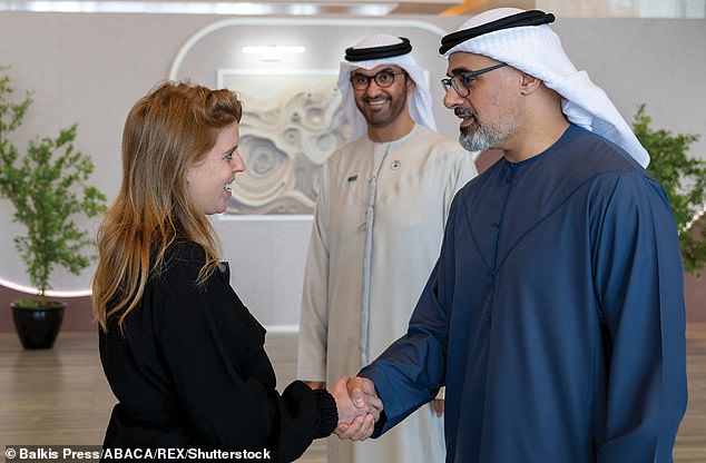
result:
[(92, 304), (104, 329), (111, 316), (122, 325), (176, 239), (204, 248), (199, 284), (218, 265), (218, 238), (184, 178), (214, 147), (220, 129), (241, 116), (235, 92), (174, 81), (158, 85), (130, 109), (122, 131), (120, 193), (98, 230)]

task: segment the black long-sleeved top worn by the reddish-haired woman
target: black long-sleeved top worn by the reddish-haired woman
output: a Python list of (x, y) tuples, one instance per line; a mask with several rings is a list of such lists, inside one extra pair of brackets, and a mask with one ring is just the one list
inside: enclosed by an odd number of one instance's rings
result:
[(100, 359), (119, 401), (104, 447), (252, 451), (293, 461), (333, 432), (335, 402), (298, 381), (278, 394), (265, 329), (231, 287), (227, 264), (196, 285), (204, 262), (200, 246), (176, 247), (122, 331), (115, 318), (107, 333), (99, 329)]

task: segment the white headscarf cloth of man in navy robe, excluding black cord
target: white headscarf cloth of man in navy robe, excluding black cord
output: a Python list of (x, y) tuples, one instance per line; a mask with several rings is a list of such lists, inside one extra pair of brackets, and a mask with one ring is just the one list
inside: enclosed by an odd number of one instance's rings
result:
[[(458, 29), (465, 30), (524, 12), (517, 8), (498, 8), (478, 14)], [(521, 26), (487, 32), (465, 40), (443, 53), (465, 51), (507, 62), (516, 69), (541, 79), (561, 95), (561, 109), (569, 121), (615, 142), (643, 167), (649, 155), (618, 112), (606, 92), (578, 71), (569, 60), (559, 36), (547, 24)]]

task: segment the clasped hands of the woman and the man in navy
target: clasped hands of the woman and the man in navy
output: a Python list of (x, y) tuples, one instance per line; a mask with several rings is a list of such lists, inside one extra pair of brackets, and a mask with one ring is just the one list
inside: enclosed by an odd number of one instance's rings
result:
[(372, 381), (359, 376), (342, 376), (329, 390), (336, 401), (339, 439), (364, 441), (371, 436), (382, 412), (382, 401)]

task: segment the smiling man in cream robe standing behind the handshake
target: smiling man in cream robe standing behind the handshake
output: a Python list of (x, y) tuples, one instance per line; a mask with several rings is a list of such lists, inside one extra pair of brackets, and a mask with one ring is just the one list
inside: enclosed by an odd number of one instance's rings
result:
[[(339, 88), (351, 144), (325, 162), (304, 276), (297, 376), (312, 387), (357, 372), (406, 332), (473, 156), (434, 130), (408, 39), (349, 48)], [(329, 440), (329, 462), (444, 460), (443, 396), (379, 441)]]

